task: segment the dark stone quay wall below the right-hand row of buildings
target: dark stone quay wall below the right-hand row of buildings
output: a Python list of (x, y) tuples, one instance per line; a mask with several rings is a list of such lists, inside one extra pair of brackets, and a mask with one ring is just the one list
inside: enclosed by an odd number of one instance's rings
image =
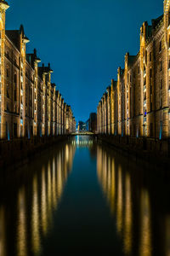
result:
[(107, 143), (132, 160), (145, 160), (151, 165), (169, 169), (170, 143), (146, 137), (98, 135), (98, 141)]

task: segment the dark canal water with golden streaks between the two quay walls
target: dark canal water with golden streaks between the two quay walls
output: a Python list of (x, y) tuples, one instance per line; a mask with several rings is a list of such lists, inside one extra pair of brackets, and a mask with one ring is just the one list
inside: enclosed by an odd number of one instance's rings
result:
[(72, 137), (1, 170), (0, 256), (169, 256), (169, 180), (92, 137)]

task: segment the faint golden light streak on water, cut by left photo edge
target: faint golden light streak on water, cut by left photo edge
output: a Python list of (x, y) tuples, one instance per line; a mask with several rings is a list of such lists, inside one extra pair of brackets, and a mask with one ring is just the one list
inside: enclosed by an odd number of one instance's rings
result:
[(5, 212), (4, 207), (0, 207), (0, 256), (6, 256), (5, 236)]

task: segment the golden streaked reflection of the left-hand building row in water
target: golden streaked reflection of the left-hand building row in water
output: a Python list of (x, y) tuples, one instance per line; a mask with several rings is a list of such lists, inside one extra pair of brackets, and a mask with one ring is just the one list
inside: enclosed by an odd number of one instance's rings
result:
[[(53, 215), (71, 172), (74, 154), (75, 147), (69, 143), (48, 157), (43, 156), (37, 164), (22, 170), (22, 177), (13, 182), (10, 191), (6, 191), (5, 201), (2, 196), (0, 256), (42, 253), (42, 241), (53, 228)], [(13, 201), (9, 200), (11, 195)], [(13, 241), (11, 234), (14, 234)]]

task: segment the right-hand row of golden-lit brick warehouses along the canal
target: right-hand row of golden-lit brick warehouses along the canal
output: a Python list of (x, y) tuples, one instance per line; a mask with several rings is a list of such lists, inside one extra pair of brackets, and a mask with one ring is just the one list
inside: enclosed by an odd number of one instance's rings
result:
[(98, 133), (170, 136), (170, 1), (164, 14), (140, 28), (137, 55), (125, 55), (97, 109)]

